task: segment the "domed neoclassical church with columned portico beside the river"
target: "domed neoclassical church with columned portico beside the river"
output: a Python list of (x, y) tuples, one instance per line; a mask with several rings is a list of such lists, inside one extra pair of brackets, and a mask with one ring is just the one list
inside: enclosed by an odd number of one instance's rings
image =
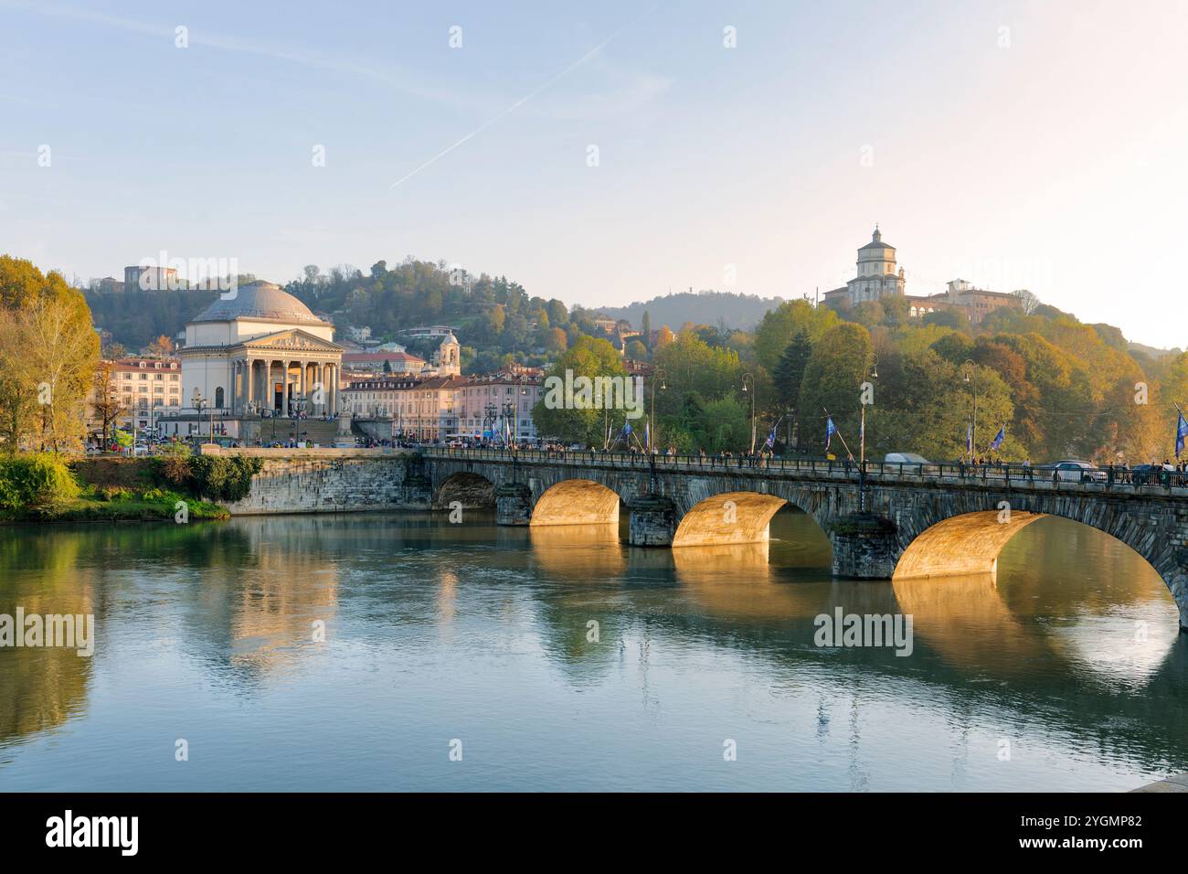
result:
[(185, 325), (182, 403), (192, 413), (198, 392), (203, 417), (223, 420), (334, 414), (342, 352), (334, 325), (279, 285), (240, 285)]

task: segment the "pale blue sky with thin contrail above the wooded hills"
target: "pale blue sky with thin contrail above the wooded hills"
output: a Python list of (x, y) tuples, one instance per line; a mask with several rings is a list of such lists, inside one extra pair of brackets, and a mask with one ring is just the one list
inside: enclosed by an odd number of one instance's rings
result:
[(621, 306), (813, 296), (877, 222), (909, 294), (1184, 347), (1184, 11), (0, 0), (0, 252), (278, 283), (411, 254)]

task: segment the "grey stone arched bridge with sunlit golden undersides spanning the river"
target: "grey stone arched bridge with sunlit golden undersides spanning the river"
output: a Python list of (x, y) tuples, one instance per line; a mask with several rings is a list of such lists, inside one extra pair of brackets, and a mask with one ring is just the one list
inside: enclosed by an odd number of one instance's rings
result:
[(440, 449), (422, 455), (432, 504), (497, 507), (499, 524), (617, 523), (675, 548), (762, 542), (785, 504), (833, 543), (833, 572), (870, 579), (993, 573), (1024, 526), (1061, 516), (1120, 540), (1171, 591), (1188, 629), (1188, 488), (1053, 482), (1019, 469)]

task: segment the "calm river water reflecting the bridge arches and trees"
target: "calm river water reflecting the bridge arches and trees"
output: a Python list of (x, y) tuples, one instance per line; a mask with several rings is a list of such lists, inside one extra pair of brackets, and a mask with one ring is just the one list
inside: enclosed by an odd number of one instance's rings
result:
[[(726, 736), (750, 760), (728, 785), (748, 788), (1127, 788), (1188, 769), (1174, 605), (1087, 528), (1028, 526), (997, 579), (864, 581), (835, 579), (792, 510), (767, 542), (675, 551), (627, 546), (625, 520), (493, 521), (0, 533), (0, 605), (91, 609), (100, 637), (94, 660), (0, 652), (0, 781), (710, 787)], [(816, 647), (838, 606), (911, 614), (912, 656)], [(201, 738), (202, 768), (170, 769), (177, 736)], [(485, 778), (438, 763), (455, 736)]]

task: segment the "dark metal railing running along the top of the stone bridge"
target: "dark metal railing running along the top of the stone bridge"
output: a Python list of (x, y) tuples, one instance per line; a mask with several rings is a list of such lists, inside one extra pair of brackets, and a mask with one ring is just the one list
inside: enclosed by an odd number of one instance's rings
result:
[(650, 471), (700, 471), (770, 474), (815, 474), (855, 483), (861, 476), (867, 482), (927, 483), (955, 479), (966, 483), (985, 480), (987, 484), (1010, 488), (1036, 485), (1056, 489), (1086, 489), (1091, 491), (1124, 488), (1127, 491), (1188, 488), (1186, 471), (1135, 471), (1121, 467), (1095, 467), (1083, 472), (1056, 470), (1043, 465), (1022, 464), (963, 464), (941, 461), (928, 464), (866, 461), (861, 467), (848, 459), (783, 458), (779, 455), (665, 455), (642, 452), (590, 452), (574, 449), (504, 449), (467, 447), (422, 447), (426, 458), (472, 459), (480, 461), (516, 461), (517, 464), (569, 464), (583, 467)]

